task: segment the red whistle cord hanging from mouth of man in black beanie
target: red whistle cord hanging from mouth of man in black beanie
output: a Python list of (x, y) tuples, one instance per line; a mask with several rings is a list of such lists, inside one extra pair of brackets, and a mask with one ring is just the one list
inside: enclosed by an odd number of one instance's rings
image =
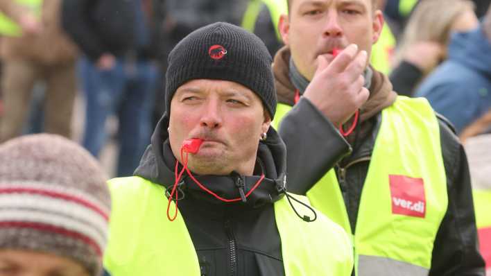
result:
[[(186, 153), (186, 155), (184, 155), (184, 152)], [(197, 150), (196, 150), (196, 152), (197, 152)], [(201, 189), (203, 189), (203, 191), (206, 191), (210, 195), (214, 196), (218, 200), (221, 200), (223, 202), (235, 202), (235, 201), (242, 200), (241, 198), (232, 198), (232, 199), (222, 198), (221, 196), (218, 196), (216, 193), (214, 193), (213, 191), (210, 191), (207, 187), (205, 187), (203, 184), (201, 184), (196, 178), (194, 178), (193, 174), (191, 173), (191, 171), (189, 171), (189, 168), (187, 167), (188, 157), (189, 157), (189, 152), (184, 150), (184, 145), (183, 145), (181, 147), (181, 160), (182, 160), (183, 166), (182, 166), (181, 171), (178, 173), (179, 161), (177, 161), (177, 160), (175, 161), (175, 169), (174, 169), (175, 182), (174, 182), (174, 185), (172, 187), (171, 195), (169, 196), (169, 202), (167, 204), (167, 218), (169, 218), (169, 221), (174, 221), (175, 218), (178, 216), (178, 200), (179, 200), (179, 198), (178, 198), (177, 188), (178, 188), (179, 180), (182, 178), (182, 174), (184, 173), (184, 171), (186, 171), (187, 174), (189, 175), (189, 177), (196, 184), (198, 184), (198, 187), (200, 187)], [(257, 180), (256, 184), (254, 184), (254, 186), (252, 186), (250, 191), (248, 191), (248, 193), (246, 193), (246, 198), (248, 196), (250, 196), (252, 191), (254, 191), (257, 187), (259, 187), (259, 184), (261, 184), (262, 180), (264, 180), (264, 174), (261, 175), (261, 178), (259, 178), (259, 180)], [(171, 215), (169, 214), (169, 210), (171, 208), (171, 201), (173, 199), (174, 194), (175, 194), (175, 198), (174, 198), (175, 213), (174, 213), (174, 216), (171, 217)]]

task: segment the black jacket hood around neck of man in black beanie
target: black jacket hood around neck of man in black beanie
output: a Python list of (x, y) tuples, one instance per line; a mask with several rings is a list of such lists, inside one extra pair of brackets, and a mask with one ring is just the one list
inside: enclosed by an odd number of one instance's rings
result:
[[(153, 132), (151, 144), (141, 157), (140, 164), (135, 175), (160, 184), (169, 191), (175, 182), (174, 169), (176, 159), (169, 144), (169, 118), (166, 114), (157, 123)], [(179, 164), (179, 167), (182, 166)], [(252, 207), (260, 207), (267, 203), (275, 202), (284, 195), (286, 185), (286, 146), (274, 128), (269, 128), (266, 141), (259, 142), (255, 175), (195, 175), (193, 176), (207, 189), (213, 191), (222, 198), (240, 198), (239, 185), (243, 184), (245, 193), (257, 183), (264, 173), (264, 180), (250, 193), (246, 202), (239, 201)], [(193, 196), (209, 202), (224, 204), (221, 200), (200, 189), (187, 173), (182, 175), (178, 184), (178, 191), (185, 196), (193, 193)], [(170, 192), (169, 192), (170, 193)]]

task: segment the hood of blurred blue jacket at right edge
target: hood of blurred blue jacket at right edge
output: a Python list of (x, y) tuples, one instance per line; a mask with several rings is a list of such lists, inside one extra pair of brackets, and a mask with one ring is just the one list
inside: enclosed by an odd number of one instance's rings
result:
[(467, 33), (454, 33), (449, 44), (449, 60), (464, 64), (491, 78), (491, 41), (483, 26)]

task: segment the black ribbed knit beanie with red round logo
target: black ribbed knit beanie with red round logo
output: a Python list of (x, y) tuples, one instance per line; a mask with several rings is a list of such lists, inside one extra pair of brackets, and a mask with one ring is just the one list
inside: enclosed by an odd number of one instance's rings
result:
[(166, 72), (166, 110), (171, 111), (175, 90), (189, 80), (214, 79), (240, 83), (255, 92), (271, 119), (276, 92), (271, 55), (252, 33), (217, 22), (184, 37), (169, 54)]

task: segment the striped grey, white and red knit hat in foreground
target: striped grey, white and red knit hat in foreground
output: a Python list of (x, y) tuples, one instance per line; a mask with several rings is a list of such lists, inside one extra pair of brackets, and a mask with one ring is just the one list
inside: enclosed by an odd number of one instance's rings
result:
[(74, 259), (101, 275), (110, 194), (86, 150), (57, 135), (0, 144), (0, 249)]

